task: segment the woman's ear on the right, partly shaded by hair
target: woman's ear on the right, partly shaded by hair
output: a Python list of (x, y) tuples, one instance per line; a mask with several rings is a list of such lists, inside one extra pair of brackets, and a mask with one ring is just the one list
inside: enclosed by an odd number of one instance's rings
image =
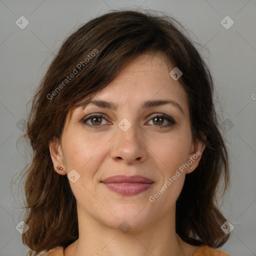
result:
[[(205, 134), (202, 134), (201, 137), (204, 140), (206, 140)], [(189, 158), (187, 159), (187, 163), (189, 164), (189, 167), (186, 168), (186, 173), (192, 172), (197, 167), (201, 159), (204, 148), (205, 148), (205, 144), (199, 140), (194, 140), (191, 143)]]

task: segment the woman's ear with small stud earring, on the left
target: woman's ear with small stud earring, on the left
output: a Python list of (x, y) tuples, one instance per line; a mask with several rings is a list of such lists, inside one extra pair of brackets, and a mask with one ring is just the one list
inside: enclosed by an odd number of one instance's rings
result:
[[(49, 150), (54, 170), (60, 175), (67, 174), (62, 155), (61, 143), (58, 138), (53, 138), (49, 142)], [(60, 167), (62, 167), (62, 170), (59, 170)]]

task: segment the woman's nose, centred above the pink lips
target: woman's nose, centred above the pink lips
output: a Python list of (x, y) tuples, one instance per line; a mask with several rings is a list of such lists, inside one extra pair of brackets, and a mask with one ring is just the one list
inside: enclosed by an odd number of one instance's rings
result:
[(143, 162), (147, 157), (144, 136), (139, 135), (137, 127), (132, 124), (126, 131), (116, 127), (116, 135), (112, 139), (111, 158), (125, 164)]

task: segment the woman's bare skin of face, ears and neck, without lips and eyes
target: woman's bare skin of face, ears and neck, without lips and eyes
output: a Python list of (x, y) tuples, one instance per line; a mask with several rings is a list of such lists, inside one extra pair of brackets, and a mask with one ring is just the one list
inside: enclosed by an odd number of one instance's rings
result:
[[(187, 95), (180, 82), (170, 77), (172, 68), (160, 53), (137, 57), (93, 97), (114, 102), (117, 109), (92, 104), (75, 108), (66, 117), (61, 138), (49, 143), (55, 171), (65, 175), (75, 169), (80, 175), (74, 183), (69, 180), (77, 201), (79, 238), (64, 250), (65, 256), (191, 256), (198, 248), (176, 234), (175, 202), (185, 174), (196, 168), (200, 156), (192, 161), (192, 170), (189, 166), (179, 171), (154, 202), (148, 199), (179, 166), (204, 149), (192, 139)], [(153, 99), (171, 99), (184, 113), (173, 104), (141, 108)], [(104, 114), (94, 122), (86, 120), (97, 129), (81, 121), (91, 113)], [(176, 123), (166, 126), (167, 119), (153, 118), (160, 114)], [(123, 118), (131, 123), (126, 131), (118, 126)], [(137, 195), (121, 195), (100, 182), (116, 174), (146, 176), (154, 184)], [(118, 228), (123, 221), (130, 227), (126, 233)]]

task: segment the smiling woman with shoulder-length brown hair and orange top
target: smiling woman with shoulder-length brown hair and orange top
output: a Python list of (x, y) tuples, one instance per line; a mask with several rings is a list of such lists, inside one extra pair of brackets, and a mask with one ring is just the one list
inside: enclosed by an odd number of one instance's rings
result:
[(227, 255), (229, 181), (207, 66), (173, 18), (116, 10), (72, 33), (32, 101), (29, 255)]

